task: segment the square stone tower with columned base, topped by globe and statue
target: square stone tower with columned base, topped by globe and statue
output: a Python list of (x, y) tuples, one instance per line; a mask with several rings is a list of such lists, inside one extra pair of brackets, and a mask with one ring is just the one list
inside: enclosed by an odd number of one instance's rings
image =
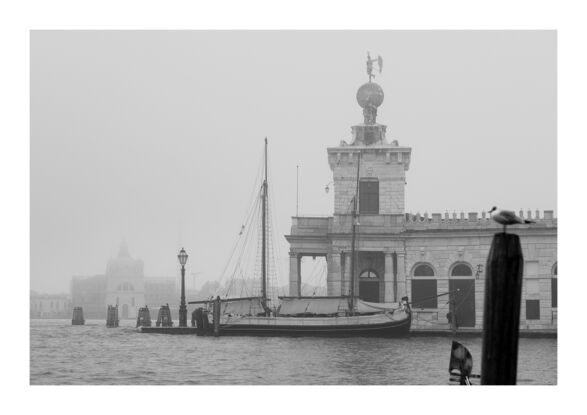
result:
[(381, 57), (371, 59), (367, 54), (369, 79), (356, 96), (363, 109), (363, 122), (351, 127), (350, 144), (341, 141), (327, 149), (334, 184), (333, 216), (296, 217), (291, 235), (286, 236), (292, 296), (301, 293), (303, 256), (327, 257), (330, 296), (354, 293), (366, 301), (393, 302), (406, 295), (401, 235), (405, 230), (404, 190), (412, 149), (400, 147), (397, 140), (388, 142), (387, 127), (377, 123), (384, 93), (373, 82), (373, 64), (381, 72)]

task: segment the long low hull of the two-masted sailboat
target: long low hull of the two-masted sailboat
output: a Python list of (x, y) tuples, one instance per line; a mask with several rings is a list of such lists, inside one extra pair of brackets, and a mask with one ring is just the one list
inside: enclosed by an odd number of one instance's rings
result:
[(221, 324), (219, 331), (220, 335), (232, 336), (405, 337), (411, 326), (409, 314), (402, 319), (331, 317), (318, 322), (312, 321), (313, 318), (292, 320), (287, 317), (248, 318)]

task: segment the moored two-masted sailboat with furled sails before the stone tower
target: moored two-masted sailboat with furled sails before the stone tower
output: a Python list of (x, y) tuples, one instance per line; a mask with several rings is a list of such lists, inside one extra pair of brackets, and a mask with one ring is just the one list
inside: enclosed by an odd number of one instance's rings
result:
[[(360, 166), (360, 158), (359, 158)], [(411, 310), (408, 298), (399, 303), (373, 303), (355, 295), (355, 243), (358, 226), (357, 191), (353, 202), (351, 284), (349, 295), (343, 296), (281, 296), (278, 305), (270, 305), (267, 284), (267, 138), (264, 151), (264, 179), (261, 196), (261, 284), (260, 295), (190, 301), (212, 310), (220, 303), (213, 318), (218, 319), (219, 335), (248, 336), (323, 336), (323, 337), (399, 337), (410, 331)], [(218, 308), (217, 308), (218, 309)], [(207, 313), (212, 316), (212, 314)], [(201, 320), (200, 320), (201, 322)], [(206, 321), (205, 323), (209, 323)], [(203, 324), (211, 331), (214, 322)]]

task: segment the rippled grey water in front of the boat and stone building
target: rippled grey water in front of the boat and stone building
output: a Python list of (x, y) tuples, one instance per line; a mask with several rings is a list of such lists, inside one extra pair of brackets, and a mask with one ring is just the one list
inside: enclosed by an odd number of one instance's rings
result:
[[(448, 337), (215, 338), (141, 334), (134, 324), (31, 320), (31, 384), (448, 383)], [(481, 338), (462, 342), (479, 373)], [(520, 339), (518, 384), (556, 384), (556, 353), (556, 339)]]

